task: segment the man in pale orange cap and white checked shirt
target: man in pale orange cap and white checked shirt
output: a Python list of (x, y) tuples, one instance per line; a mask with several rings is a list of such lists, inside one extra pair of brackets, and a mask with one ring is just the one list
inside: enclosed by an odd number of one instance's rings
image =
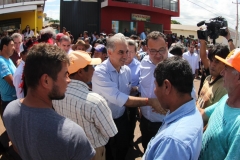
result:
[(53, 101), (54, 109), (81, 127), (96, 150), (96, 160), (105, 160), (105, 145), (109, 137), (117, 134), (112, 112), (106, 100), (91, 91), (87, 83), (91, 82), (93, 65), (101, 63), (100, 58), (91, 58), (85, 51), (73, 51), (69, 54), (68, 68), (71, 82), (65, 98)]

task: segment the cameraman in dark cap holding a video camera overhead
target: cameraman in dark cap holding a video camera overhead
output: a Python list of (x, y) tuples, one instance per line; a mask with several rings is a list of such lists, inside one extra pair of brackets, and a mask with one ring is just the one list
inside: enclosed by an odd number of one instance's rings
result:
[[(230, 33), (225, 38), (229, 42), (230, 50), (234, 49), (232, 39), (230, 38)], [(204, 66), (206, 73), (210, 72), (210, 75), (206, 77), (203, 82), (203, 87), (200, 88), (200, 94), (197, 101), (197, 107), (206, 108), (216, 102), (218, 102), (222, 96), (227, 94), (227, 91), (223, 88), (223, 78), (220, 72), (224, 69), (225, 64), (220, 62), (215, 58), (218, 55), (222, 58), (226, 58), (229, 54), (229, 49), (227, 45), (215, 45), (212, 50), (209, 51), (208, 56), (206, 53), (206, 41), (200, 39), (200, 58)], [(205, 122), (206, 124), (207, 122)]]

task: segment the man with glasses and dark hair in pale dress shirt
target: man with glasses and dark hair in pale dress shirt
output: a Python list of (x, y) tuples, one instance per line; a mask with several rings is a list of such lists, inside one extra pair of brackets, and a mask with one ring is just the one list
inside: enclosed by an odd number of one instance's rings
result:
[[(154, 70), (156, 65), (171, 57), (172, 54), (168, 52), (168, 43), (163, 33), (153, 31), (147, 35), (147, 53), (140, 66), (140, 92), (142, 97), (156, 98), (154, 94)], [(142, 133), (142, 145), (144, 150), (147, 149), (147, 144), (154, 137), (162, 125), (163, 118), (166, 112), (159, 113), (152, 111), (150, 104), (141, 107), (141, 121), (140, 130)]]

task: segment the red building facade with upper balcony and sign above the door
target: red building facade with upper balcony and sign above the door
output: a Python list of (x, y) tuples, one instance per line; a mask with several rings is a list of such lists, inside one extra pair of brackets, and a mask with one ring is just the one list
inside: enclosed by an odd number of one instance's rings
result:
[(105, 0), (101, 3), (101, 31), (171, 33), (171, 17), (179, 16), (179, 3), (179, 0)]

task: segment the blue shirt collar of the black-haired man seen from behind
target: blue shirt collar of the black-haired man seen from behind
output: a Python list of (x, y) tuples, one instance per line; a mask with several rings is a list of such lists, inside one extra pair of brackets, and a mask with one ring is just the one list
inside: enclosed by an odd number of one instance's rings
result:
[(171, 123), (184, 115), (192, 112), (196, 108), (195, 100), (192, 99), (191, 101), (183, 104), (181, 107), (179, 107), (177, 110), (175, 110), (172, 113), (167, 113), (166, 117), (164, 118), (164, 122), (166, 124)]

